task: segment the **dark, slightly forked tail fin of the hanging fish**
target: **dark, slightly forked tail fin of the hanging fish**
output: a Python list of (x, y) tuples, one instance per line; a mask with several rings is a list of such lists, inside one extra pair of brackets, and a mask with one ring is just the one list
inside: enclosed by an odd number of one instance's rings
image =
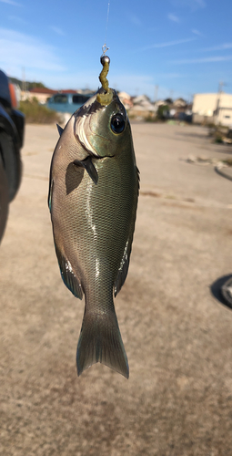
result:
[(97, 362), (129, 378), (126, 351), (115, 312), (86, 313), (84, 316), (76, 354), (78, 376)]

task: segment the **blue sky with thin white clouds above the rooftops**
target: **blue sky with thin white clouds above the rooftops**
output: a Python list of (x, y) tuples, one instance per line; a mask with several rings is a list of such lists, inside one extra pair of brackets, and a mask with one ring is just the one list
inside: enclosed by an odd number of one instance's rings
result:
[(0, 68), (49, 88), (99, 85), (109, 47), (110, 87), (191, 98), (232, 93), (231, 0), (0, 0)]

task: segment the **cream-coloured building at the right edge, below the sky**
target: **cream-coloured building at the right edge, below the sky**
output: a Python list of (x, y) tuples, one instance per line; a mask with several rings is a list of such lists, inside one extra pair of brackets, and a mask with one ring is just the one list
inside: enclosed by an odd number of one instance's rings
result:
[(193, 101), (193, 121), (232, 125), (232, 95), (224, 92), (196, 94)]

